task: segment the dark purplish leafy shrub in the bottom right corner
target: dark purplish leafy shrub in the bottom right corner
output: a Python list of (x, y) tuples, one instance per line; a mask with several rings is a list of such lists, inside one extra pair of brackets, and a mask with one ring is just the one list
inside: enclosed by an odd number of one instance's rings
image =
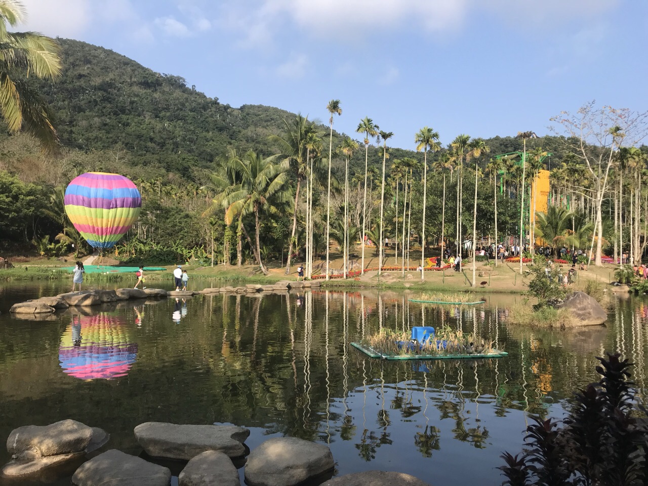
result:
[(564, 421), (532, 417), (524, 452), (504, 452), (503, 486), (625, 485), (648, 481), (646, 410), (635, 400), (631, 363), (596, 358), (601, 379), (575, 393)]

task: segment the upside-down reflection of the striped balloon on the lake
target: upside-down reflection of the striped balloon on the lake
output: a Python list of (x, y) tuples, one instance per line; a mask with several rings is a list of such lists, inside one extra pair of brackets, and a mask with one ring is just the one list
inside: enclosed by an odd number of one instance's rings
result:
[(73, 316), (58, 351), (64, 373), (81, 378), (126, 376), (137, 359), (137, 344), (129, 342), (124, 321), (109, 314)]

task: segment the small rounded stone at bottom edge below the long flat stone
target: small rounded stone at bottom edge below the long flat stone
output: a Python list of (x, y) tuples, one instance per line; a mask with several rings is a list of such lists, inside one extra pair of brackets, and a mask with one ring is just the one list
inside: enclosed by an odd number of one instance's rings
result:
[(178, 476), (179, 486), (240, 486), (237, 468), (222, 452), (207, 450), (187, 463)]

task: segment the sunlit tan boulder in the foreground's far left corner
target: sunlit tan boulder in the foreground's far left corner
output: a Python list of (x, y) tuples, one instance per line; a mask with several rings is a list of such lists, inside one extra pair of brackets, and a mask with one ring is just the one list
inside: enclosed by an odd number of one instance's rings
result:
[(92, 434), (92, 428), (70, 419), (45, 426), (27, 425), (9, 434), (6, 450), (14, 458), (26, 452), (35, 453), (36, 457), (83, 452)]

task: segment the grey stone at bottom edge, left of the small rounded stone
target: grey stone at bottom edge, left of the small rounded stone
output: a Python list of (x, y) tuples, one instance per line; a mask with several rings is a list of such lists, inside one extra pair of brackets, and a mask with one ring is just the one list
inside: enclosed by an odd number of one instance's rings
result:
[(93, 457), (72, 476), (76, 486), (168, 486), (171, 471), (111, 449)]

